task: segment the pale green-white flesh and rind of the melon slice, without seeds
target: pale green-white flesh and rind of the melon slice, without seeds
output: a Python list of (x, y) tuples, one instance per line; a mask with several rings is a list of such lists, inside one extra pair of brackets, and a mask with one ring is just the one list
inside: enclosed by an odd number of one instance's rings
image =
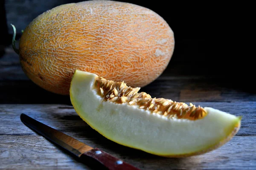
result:
[(136, 105), (103, 102), (96, 77), (76, 71), (71, 102), (85, 122), (119, 144), (161, 156), (185, 155), (214, 147), (239, 128), (239, 117), (213, 108), (204, 108), (208, 114), (203, 119), (168, 119)]

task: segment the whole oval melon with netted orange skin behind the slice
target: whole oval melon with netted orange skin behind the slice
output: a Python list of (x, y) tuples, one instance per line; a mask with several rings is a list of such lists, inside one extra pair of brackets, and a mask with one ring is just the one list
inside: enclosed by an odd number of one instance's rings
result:
[(76, 69), (143, 87), (166, 69), (174, 34), (154, 11), (117, 1), (84, 1), (52, 8), (24, 30), (20, 64), (37, 85), (69, 95)]

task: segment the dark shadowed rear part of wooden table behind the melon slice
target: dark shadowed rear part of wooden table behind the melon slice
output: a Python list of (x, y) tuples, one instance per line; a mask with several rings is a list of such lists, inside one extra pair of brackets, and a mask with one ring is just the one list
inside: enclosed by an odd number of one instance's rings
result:
[[(160, 77), (141, 88), (140, 92), (178, 102), (256, 101), (255, 88), (248, 87), (250, 84), (241, 85), (241, 81), (219, 75), (199, 74), (195, 70), (190, 71), (188, 66), (171, 62)], [(184, 67), (188, 67), (187, 74)], [(26, 77), (12, 48), (5, 48), (5, 54), (0, 58), (0, 73), (0, 103), (70, 105), (69, 96), (46, 91)]]

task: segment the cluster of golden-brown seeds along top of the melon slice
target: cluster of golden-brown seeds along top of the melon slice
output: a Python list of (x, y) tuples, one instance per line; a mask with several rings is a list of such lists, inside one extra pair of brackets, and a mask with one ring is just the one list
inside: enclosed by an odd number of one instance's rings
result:
[(102, 77), (96, 79), (98, 94), (108, 102), (127, 103), (138, 105), (140, 109), (151, 111), (168, 118), (176, 119), (201, 119), (207, 115), (204, 108), (195, 107), (192, 103), (173, 102), (170, 99), (151, 98), (145, 92), (138, 93), (140, 88), (131, 88), (124, 82), (113, 82)]

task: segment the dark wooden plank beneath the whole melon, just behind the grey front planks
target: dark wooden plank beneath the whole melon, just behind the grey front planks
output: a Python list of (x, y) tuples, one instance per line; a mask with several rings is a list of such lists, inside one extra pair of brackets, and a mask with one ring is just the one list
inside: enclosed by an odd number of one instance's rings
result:
[[(141, 88), (152, 97), (163, 97), (178, 102), (239, 102), (256, 101), (256, 94), (241, 90), (227, 90), (213, 87), (204, 89), (184, 89), (189, 82), (186, 80), (163, 81), (156, 80)], [(201, 82), (190, 82), (200, 86)], [(69, 96), (51, 93), (40, 88), (30, 80), (0, 81), (0, 103), (4, 104), (70, 104)]]

